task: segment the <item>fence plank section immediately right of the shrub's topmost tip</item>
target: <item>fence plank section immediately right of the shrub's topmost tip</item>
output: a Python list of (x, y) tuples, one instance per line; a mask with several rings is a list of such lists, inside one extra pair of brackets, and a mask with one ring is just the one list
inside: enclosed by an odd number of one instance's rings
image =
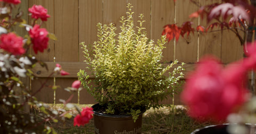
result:
[(143, 14), (143, 21), (146, 21), (142, 24), (143, 28), (146, 28), (147, 31), (147, 37), (150, 38), (150, 8), (151, 8), (151, 1), (149, 0), (128, 0), (127, 4), (130, 3), (133, 8), (132, 12), (134, 14), (132, 15), (133, 17), (133, 22), (134, 26), (139, 26), (140, 23), (138, 21), (141, 21), (139, 18), (140, 14)]

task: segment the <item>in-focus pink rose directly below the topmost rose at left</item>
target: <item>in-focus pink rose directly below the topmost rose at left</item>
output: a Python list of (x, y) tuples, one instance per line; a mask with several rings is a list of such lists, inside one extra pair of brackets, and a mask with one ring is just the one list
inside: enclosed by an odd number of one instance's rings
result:
[(48, 32), (46, 29), (40, 29), (40, 25), (35, 25), (33, 29), (30, 29), (29, 36), (32, 41), (33, 49), (37, 54), (37, 51), (43, 52), (48, 47), (49, 38), (47, 37)]

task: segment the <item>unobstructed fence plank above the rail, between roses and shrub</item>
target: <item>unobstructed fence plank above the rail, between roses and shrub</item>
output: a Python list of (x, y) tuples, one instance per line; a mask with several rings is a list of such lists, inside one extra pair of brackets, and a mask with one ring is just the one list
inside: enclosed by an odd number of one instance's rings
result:
[(54, 1), (55, 61), (78, 61), (78, 0)]

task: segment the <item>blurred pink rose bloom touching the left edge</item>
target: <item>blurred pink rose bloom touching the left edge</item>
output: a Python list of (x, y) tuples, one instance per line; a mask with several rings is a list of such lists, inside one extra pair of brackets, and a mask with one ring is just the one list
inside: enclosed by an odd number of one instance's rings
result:
[(22, 55), (25, 53), (23, 38), (18, 37), (14, 33), (2, 34), (0, 41), (0, 48), (11, 52), (13, 55)]

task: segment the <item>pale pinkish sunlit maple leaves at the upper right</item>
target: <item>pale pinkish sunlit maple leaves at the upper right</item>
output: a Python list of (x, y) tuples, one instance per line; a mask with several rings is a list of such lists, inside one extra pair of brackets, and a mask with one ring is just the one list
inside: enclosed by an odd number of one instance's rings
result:
[(250, 20), (249, 14), (242, 6), (234, 6), (231, 3), (223, 3), (212, 8), (207, 20), (210, 22), (212, 19), (218, 18), (220, 15), (222, 15), (225, 20), (229, 15), (233, 15), (235, 21), (238, 19)]

